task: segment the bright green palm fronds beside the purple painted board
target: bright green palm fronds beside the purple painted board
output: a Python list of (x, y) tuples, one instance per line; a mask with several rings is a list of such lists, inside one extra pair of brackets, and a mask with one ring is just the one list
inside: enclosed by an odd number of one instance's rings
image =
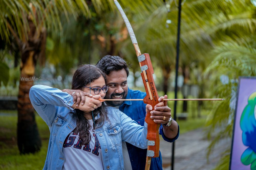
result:
[[(233, 130), (234, 108), (231, 102), (234, 102), (235, 92), (237, 90), (237, 81), (239, 76), (255, 76), (256, 69), (256, 46), (255, 36), (237, 38), (229, 42), (220, 42), (220, 45), (212, 50), (212, 55), (216, 56), (205, 71), (205, 75), (214, 74), (212, 77), (212, 95), (225, 98), (225, 102), (214, 105), (214, 108), (207, 119), (208, 138), (214, 138), (208, 147), (208, 155), (214, 148), (214, 145), (221, 138), (231, 138)], [(221, 84), (220, 76), (228, 76), (228, 83)], [(216, 129), (218, 130), (217, 135)], [(221, 162), (221, 167), (227, 167), (229, 164), (228, 155)]]

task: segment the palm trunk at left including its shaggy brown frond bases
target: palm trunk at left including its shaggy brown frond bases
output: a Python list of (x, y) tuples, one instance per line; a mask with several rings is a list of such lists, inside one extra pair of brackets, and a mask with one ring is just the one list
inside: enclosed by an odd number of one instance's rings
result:
[[(35, 121), (34, 108), (29, 99), (29, 90), (34, 84), (33, 76), (35, 75), (36, 61), (39, 60), (41, 65), (45, 63), (46, 29), (43, 27), (43, 24), (38, 21), (36, 8), (32, 3), (29, 3), (29, 6), (33, 9), (34, 14), (29, 13), (27, 16), (23, 14), (23, 17), (27, 17), (29, 29), (22, 29), (21, 37), (19, 37), (15, 29), (7, 23), (7, 25), (9, 25), (9, 31), (12, 33), (12, 36), (15, 37), (14, 43), (17, 45), (21, 57), (17, 104), (17, 142), (21, 154), (35, 153), (41, 148), (41, 139)], [(36, 17), (35, 19), (41, 27), (36, 28), (32, 20), (33, 17)], [(17, 58), (15, 60), (17, 61)]]

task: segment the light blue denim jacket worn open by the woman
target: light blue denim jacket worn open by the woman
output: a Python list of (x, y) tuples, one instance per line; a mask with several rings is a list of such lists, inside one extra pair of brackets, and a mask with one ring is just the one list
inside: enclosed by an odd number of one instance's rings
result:
[[(65, 161), (62, 146), (76, 127), (72, 113), (73, 97), (59, 89), (44, 85), (31, 87), (29, 97), (37, 113), (50, 129), (50, 139), (44, 169), (61, 169)], [(122, 141), (147, 148), (147, 124), (138, 125), (119, 109), (107, 107), (110, 122), (96, 130), (100, 142), (104, 169), (124, 169)], [(98, 119), (99, 115), (95, 117)], [(111, 123), (111, 124), (110, 124)], [(98, 125), (100, 126), (100, 124)], [(139, 154), (139, 153), (138, 153)], [(90, 161), (86, 160), (85, 162)]]

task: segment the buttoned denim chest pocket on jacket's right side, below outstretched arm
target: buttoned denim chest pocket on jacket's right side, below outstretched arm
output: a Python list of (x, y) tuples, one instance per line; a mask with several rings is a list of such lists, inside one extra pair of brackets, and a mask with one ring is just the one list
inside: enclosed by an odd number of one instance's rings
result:
[(122, 135), (121, 135), (122, 129), (123, 129), (122, 126), (119, 124), (114, 127), (110, 127), (109, 129), (106, 130), (113, 146), (122, 145)]

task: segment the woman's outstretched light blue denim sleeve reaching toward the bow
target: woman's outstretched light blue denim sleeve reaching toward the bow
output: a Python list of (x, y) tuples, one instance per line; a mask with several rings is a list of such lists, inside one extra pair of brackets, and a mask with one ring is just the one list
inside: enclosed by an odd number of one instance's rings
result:
[(138, 125), (134, 120), (120, 111), (122, 129), (122, 141), (146, 149), (147, 148), (147, 123), (144, 126)]

